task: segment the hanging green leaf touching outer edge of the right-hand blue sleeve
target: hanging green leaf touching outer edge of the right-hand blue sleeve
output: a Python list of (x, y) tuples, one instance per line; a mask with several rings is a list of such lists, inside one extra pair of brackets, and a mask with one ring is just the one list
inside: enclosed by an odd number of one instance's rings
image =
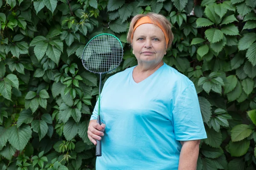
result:
[(204, 122), (209, 122), (211, 116), (212, 116), (212, 105), (211, 103), (205, 99), (204, 97), (198, 97), (200, 109), (203, 117)]

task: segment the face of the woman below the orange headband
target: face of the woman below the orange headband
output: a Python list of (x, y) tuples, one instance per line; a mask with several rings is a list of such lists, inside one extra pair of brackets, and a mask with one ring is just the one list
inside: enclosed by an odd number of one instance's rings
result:
[(163, 31), (154, 24), (142, 24), (134, 31), (133, 54), (139, 63), (158, 64), (166, 54)]

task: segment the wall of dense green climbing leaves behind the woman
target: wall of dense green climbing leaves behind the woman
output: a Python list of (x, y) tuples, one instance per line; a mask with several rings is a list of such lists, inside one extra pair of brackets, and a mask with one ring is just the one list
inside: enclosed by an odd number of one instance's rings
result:
[(0, 169), (94, 168), (87, 126), (99, 77), (82, 67), (83, 48), (114, 34), (125, 47), (116, 71), (136, 65), (129, 21), (149, 11), (171, 21), (164, 61), (198, 92), (208, 139), (197, 169), (256, 169), (255, 8), (255, 0), (1, 0)]

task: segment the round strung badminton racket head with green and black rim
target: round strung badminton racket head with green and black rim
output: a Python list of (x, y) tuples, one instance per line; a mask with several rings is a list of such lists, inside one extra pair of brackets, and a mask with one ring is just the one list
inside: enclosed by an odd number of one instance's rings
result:
[(92, 73), (104, 74), (117, 68), (122, 62), (123, 46), (112, 34), (99, 34), (84, 47), (82, 63)]

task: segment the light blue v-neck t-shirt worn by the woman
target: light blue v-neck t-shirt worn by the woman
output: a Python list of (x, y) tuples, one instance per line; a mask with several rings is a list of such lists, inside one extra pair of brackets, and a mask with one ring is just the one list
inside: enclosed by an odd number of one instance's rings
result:
[[(111, 76), (101, 94), (106, 124), (96, 170), (177, 170), (179, 141), (207, 138), (195, 86), (162, 65), (142, 82), (134, 67)], [(91, 119), (97, 119), (98, 103)]]

